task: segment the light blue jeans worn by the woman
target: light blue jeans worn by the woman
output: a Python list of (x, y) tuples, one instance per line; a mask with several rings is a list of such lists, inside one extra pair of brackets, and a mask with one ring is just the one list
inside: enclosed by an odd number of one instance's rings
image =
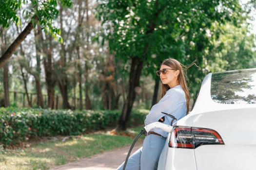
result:
[[(142, 147), (129, 157), (125, 170), (157, 170), (165, 140), (165, 137), (157, 135), (146, 136)], [(123, 165), (124, 162), (117, 170), (122, 170)]]

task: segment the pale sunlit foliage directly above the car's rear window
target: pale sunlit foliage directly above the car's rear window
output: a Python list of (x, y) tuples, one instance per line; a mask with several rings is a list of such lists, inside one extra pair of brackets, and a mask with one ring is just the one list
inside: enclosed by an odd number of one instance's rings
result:
[(222, 30), (218, 38), (213, 38), (214, 48), (206, 57), (207, 71), (217, 72), (223, 70), (251, 68), (250, 62), (256, 55), (255, 36), (247, 30), (247, 24), (237, 28), (232, 24), (221, 27), (215, 26), (215, 30)]

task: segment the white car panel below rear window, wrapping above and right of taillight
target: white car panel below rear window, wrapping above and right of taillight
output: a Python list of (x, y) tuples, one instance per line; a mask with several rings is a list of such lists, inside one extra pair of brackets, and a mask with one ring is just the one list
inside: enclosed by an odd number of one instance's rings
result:
[(191, 114), (177, 125), (213, 129), (225, 144), (256, 144), (256, 107)]

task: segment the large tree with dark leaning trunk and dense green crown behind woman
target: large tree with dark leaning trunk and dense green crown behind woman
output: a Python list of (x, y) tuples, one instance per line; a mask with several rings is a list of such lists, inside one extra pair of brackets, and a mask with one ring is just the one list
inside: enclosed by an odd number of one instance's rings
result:
[(157, 63), (170, 56), (184, 64), (196, 60), (201, 66), (201, 54), (210, 46), (207, 29), (215, 21), (236, 20), (241, 12), (238, 0), (99, 2), (98, 18), (108, 30), (105, 38), (111, 51), (125, 62), (131, 62), (128, 96), (118, 121), (118, 129), (122, 130), (127, 128), (130, 119), (143, 66), (156, 69)]

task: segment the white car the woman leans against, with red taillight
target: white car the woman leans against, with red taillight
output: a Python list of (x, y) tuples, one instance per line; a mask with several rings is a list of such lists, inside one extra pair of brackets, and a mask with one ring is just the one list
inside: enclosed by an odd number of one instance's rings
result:
[(158, 170), (256, 170), (256, 68), (209, 73)]

